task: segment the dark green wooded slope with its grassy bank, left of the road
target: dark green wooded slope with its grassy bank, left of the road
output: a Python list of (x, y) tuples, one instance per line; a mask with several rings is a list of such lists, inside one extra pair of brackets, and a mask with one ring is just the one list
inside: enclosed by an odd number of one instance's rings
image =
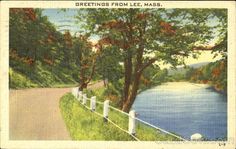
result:
[(71, 36), (69, 31), (57, 31), (41, 9), (11, 8), (9, 23), (10, 68), (14, 72), (10, 88), (75, 85), (81, 80), (80, 68), (87, 62), (79, 65), (85, 61), (80, 53), (89, 50), (80, 45), (87, 41)]

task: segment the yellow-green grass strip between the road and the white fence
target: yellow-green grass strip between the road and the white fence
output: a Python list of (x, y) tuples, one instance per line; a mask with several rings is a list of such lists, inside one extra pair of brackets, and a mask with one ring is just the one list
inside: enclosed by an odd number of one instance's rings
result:
[(73, 140), (134, 140), (111, 123), (83, 107), (72, 94), (60, 100), (60, 108)]

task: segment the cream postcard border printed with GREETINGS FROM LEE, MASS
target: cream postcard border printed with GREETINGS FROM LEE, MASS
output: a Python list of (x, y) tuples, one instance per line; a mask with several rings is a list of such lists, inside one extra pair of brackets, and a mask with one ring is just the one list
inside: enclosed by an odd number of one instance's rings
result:
[[(236, 23), (235, 23), (235, 7), (234, 1), (145, 1), (145, 3), (160, 3), (161, 7), (142, 7), (142, 8), (226, 8), (228, 9), (228, 141), (222, 142), (207, 141), (207, 142), (161, 142), (161, 141), (63, 141), (63, 140), (9, 140), (9, 8), (98, 8), (94, 7), (78, 7), (77, 2), (82, 1), (1, 1), (1, 28), (0, 28), (0, 98), (1, 98), (1, 148), (222, 148), (233, 149), (236, 142)], [(87, 1), (88, 2), (88, 1)], [(90, 1), (91, 2), (91, 1)], [(102, 1), (93, 1), (102, 2)], [(104, 1), (112, 2), (129, 2), (135, 1)], [(144, 3), (144, 1), (136, 1)], [(105, 7), (101, 7), (105, 8)], [(107, 7), (106, 7), (107, 8)], [(124, 7), (109, 7), (109, 8), (124, 8)], [(127, 8), (127, 7), (125, 7)], [(133, 6), (132, 8), (140, 8)]]

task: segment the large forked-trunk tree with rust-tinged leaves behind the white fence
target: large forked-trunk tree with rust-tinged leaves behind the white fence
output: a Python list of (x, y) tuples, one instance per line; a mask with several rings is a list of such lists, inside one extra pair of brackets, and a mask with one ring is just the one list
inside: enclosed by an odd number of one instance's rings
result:
[[(214, 10), (218, 11), (218, 10)], [(208, 9), (84, 9), (80, 21), (86, 31), (100, 36), (103, 46), (117, 47), (124, 63), (121, 109), (134, 103), (143, 71), (155, 62), (173, 66), (196, 56), (194, 47), (212, 38)]]

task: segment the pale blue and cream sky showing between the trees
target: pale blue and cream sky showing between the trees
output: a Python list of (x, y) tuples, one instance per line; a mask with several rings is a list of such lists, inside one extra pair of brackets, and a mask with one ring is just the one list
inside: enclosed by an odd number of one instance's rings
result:
[[(80, 26), (78, 22), (76, 22), (76, 14), (77, 9), (67, 9), (66, 11), (62, 11), (60, 9), (44, 9), (42, 14), (44, 16), (48, 17), (48, 20), (53, 23), (58, 31), (61, 31), (62, 33), (65, 30), (69, 30), (72, 35), (75, 33), (81, 31)], [(214, 22), (215, 20), (212, 20)], [(93, 37), (91, 38), (91, 41), (96, 42), (97, 38)], [(213, 54), (211, 54), (211, 51), (202, 51), (201, 55), (198, 59), (194, 58), (187, 58), (186, 64), (196, 64), (196, 63), (202, 63), (202, 62), (214, 62), (216, 60), (219, 60), (221, 57), (218, 56), (213, 59)], [(161, 65), (161, 68), (169, 68), (169, 65)]]

